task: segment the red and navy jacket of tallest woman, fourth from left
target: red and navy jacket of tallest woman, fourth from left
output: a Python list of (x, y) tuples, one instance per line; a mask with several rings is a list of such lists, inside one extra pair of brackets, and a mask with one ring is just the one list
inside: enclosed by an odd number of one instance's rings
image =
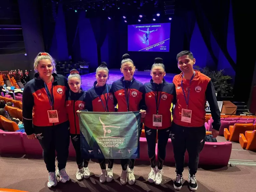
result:
[[(114, 104), (118, 104), (118, 112), (146, 110), (145, 87), (134, 77), (132, 81), (125, 81), (124, 77), (114, 81), (111, 92), (114, 95)], [(129, 99), (129, 106), (126, 98)]]

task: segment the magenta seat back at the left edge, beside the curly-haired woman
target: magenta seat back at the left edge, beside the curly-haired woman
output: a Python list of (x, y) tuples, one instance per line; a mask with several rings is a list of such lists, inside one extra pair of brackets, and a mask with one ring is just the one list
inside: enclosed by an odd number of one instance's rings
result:
[(21, 132), (0, 132), (0, 154), (25, 154)]

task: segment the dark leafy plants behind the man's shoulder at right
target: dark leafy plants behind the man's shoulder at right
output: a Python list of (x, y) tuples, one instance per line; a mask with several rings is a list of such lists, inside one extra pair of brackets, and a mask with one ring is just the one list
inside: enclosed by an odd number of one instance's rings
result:
[(211, 78), (215, 91), (220, 93), (221, 96), (227, 96), (232, 93), (233, 87), (230, 84), (232, 78), (229, 75), (224, 75), (224, 69), (220, 71), (211, 71), (208, 67), (201, 68), (194, 66), (194, 69), (199, 70), (201, 73)]

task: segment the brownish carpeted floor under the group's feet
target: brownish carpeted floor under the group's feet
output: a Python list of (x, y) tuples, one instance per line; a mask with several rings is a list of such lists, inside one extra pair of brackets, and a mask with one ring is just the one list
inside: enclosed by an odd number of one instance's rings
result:
[[(119, 163), (119, 162), (117, 162)], [(47, 187), (48, 173), (42, 159), (31, 159), (27, 157), (12, 158), (0, 157), (0, 187), (25, 190), (29, 192), (79, 192), (79, 191), (175, 191), (173, 180), (175, 178), (175, 168), (164, 166), (162, 184), (157, 186), (147, 181), (150, 166), (148, 162), (137, 162), (135, 167), (136, 183), (134, 185), (121, 185), (120, 164), (114, 165), (114, 180), (111, 183), (101, 184), (99, 182), (100, 167), (96, 162), (90, 161), (89, 169), (91, 177), (83, 181), (75, 179), (77, 166), (75, 161), (68, 161), (66, 170), (71, 181), (60, 183), (54, 188)], [(243, 192), (255, 191), (256, 167), (235, 166), (218, 169), (199, 168), (196, 174), (198, 181), (198, 192)], [(187, 167), (184, 170), (183, 187), (180, 192), (190, 191), (187, 182)]]

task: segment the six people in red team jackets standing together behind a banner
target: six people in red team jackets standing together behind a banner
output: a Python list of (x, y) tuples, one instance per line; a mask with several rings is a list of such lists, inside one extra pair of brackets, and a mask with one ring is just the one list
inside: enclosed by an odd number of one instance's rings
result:
[[(209, 77), (193, 70), (195, 58), (190, 51), (177, 54), (178, 68), (181, 74), (173, 78), (173, 83), (166, 82), (165, 66), (161, 58), (156, 58), (151, 67), (152, 79), (144, 85), (134, 78), (135, 65), (128, 54), (123, 55), (121, 73), (123, 77), (107, 84), (109, 70), (102, 62), (96, 69), (96, 81), (93, 87), (84, 91), (82, 81), (76, 69), (70, 71), (68, 79), (56, 74), (55, 61), (48, 53), (39, 53), (35, 58), (35, 78), (30, 80), (23, 91), (23, 122), (29, 139), (38, 139), (43, 148), (43, 159), (49, 172), (48, 187), (56, 186), (56, 177), (60, 182), (70, 178), (65, 167), (68, 158), (69, 141), (76, 151), (78, 169), (76, 179), (89, 178), (90, 159), (81, 157), (80, 127), (77, 113), (79, 110), (94, 112), (140, 111), (141, 125), (144, 123), (148, 143), (148, 155), (151, 170), (148, 181), (157, 185), (162, 182), (163, 164), (166, 144), (171, 137), (176, 161), (176, 178), (174, 188), (182, 187), (184, 154), (189, 154), (189, 186), (197, 190), (197, 172), (199, 153), (205, 141), (205, 103), (211, 106), (213, 137), (220, 128), (220, 112), (215, 96), (214, 86)], [(101, 102), (98, 102), (100, 99)], [(173, 122), (171, 104), (175, 105)], [(158, 134), (158, 162), (155, 146)], [(58, 170), (55, 173), (55, 150), (57, 152)], [(114, 159), (98, 159), (101, 168), (100, 182), (113, 180)], [(121, 159), (121, 184), (135, 183), (135, 159)]]

